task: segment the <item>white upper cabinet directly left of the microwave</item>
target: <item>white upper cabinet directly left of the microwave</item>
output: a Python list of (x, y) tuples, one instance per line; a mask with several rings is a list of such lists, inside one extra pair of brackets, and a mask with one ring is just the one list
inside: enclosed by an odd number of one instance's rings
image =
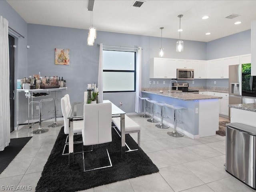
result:
[(149, 78), (176, 79), (177, 78), (176, 59), (154, 58), (150, 63)]

